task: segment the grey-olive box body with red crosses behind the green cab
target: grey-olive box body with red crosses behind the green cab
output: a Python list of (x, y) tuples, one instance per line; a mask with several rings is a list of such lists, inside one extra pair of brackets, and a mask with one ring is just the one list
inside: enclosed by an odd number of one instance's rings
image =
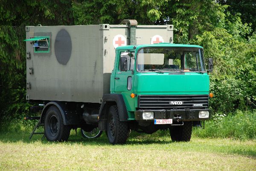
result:
[[(101, 103), (110, 93), (115, 61), (113, 40), (150, 44), (154, 35), (172, 43), (173, 26), (85, 25), (26, 26), (26, 39), (49, 37), (49, 51), (35, 52), (26, 41), (26, 99)], [(131, 37), (131, 38), (130, 38)], [(117, 40), (118, 41), (118, 40)]]

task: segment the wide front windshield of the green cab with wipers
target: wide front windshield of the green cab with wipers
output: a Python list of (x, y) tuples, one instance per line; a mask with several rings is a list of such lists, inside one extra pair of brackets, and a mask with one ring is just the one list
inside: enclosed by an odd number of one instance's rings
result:
[(137, 55), (137, 70), (139, 72), (206, 71), (202, 49), (166, 47), (140, 49)]

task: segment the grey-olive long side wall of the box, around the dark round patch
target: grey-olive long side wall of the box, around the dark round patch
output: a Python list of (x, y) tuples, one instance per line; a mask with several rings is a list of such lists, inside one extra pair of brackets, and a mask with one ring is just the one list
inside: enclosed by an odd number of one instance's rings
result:
[[(67, 64), (58, 62), (55, 51), (56, 35), (65, 30), (71, 37), (71, 56)], [(26, 44), (31, 59), (27, 60), (27, 90), (30, 99), (51, 101), (84, 101), (99, 103), (103, 95), (102, 38), (99, 25), (90, 26), (36, 26), (30, 27), (27, 37), (34, 30), (38, 36), (51, 33), (50, 53), (34, 53)], [(65, 48), (65, 47), (64, 47)], [(57, 51), (56, 51), (57, 52)], [(34, 74), (28, 73), (34, 68)]]

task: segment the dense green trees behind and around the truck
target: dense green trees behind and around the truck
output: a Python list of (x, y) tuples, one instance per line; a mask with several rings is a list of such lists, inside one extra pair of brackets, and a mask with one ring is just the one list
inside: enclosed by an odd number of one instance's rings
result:
[(25, 26), (174, 24), (175, 43), (204, 47), (214, 58), (214, 111), (256, 108), (256, 19), (253, 0), (2, 0), (0, 2), (0, 122), (28, 114)]

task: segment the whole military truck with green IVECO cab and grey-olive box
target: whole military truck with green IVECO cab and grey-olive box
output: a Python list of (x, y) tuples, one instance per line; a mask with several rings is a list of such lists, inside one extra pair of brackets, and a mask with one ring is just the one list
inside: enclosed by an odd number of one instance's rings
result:
[(206, 70), (203, 47), (174, 44), (173, 25), (26, 26), (24, 41), (26, 100), (42, 105), (49, 141), (77, 128), (106, 130), (111, 144), (131, 130), (189, 141), (210, 117), (212, 60)]

